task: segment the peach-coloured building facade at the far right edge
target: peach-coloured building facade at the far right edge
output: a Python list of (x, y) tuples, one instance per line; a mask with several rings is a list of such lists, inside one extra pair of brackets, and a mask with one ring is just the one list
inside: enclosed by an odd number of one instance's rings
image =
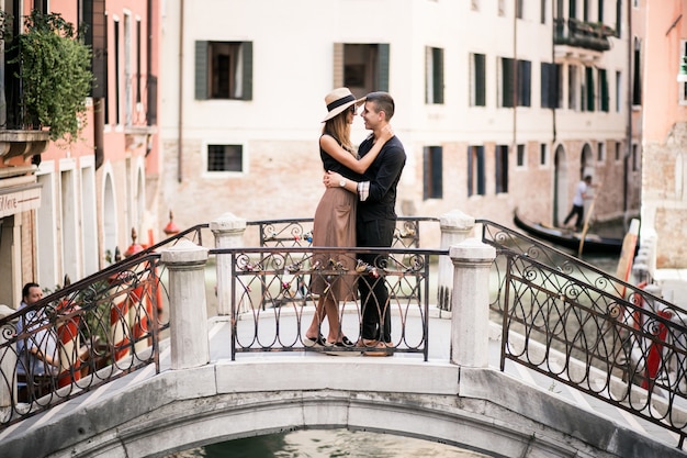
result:
[(642, 235), (654, 239), (653, 267), (675, 271), (687, 266), (682, 243), (687, 219), (687, 1), (634, 3), (645, 31), (637, 43), (644, 92)]

